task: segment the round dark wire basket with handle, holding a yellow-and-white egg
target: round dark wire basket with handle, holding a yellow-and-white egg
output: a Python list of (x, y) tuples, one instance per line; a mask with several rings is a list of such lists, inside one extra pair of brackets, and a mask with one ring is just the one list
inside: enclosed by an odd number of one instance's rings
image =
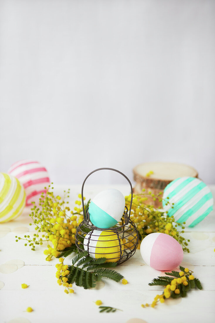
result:
[[(127, 206), (125, 206), (121, 220), (115, 226), (108, 229), (98, 228), (93, 225), (90, 222), (88, 208), (86, 210), (84, 208), (84, 184), (91, 174), (100, 170), (118, 172), (127, 179), (131, 187), (129, 212)], [(88, 255), (93, 258), (106, 257), (107, 262), (117, 262), (118, 265), (127, 261), (132, 255), (134, 255), (139, 240), (138, 230), (135, 224), (130, 220), (133, 193), (132, 185), (128, 177), (114, 168), (98, 168), (89, 173), (85, 178), (82, 184), (81, 198), (84, 220), (79, 224), (76, 230), (75, 238), (78, 252), (81, 253), (83, 251), (87, 251)], [(98, 240), (99, 243), (97, 243)]]

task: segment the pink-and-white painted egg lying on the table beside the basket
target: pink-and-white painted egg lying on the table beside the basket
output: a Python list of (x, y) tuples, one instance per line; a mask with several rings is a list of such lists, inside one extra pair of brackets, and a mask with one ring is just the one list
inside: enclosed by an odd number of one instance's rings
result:
[(165, 233), (148, 234), (140, 245), (140, 254), (148, 266), (157, 270), (172, 270), (183, 260), (179, 242)]

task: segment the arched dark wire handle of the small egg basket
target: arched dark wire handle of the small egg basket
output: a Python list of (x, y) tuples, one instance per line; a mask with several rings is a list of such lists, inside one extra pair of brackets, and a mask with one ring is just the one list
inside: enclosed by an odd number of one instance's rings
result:
[(97, 171), (105, 170), (105, 169), (106, 169), (106, 170), (109, 170), (109, 171), (114, 171), (114, 172), (117, 172), (117, 173), (121, 174), (122, 176), (124, 176), (124, 177), (127, 179), (128, 183), (130, 184), (130, 187), (131, 187), (131, 202), (130, 202), (130, 209), (129, 209), (129, 214), (128, 214), (128, 208), (126, 207), (126, 212), (125, 212), (125, 214), (124, 214), (125, 224), (128, 224), (128, 222), (129, 222), (129, 220), (130, 220), (131, 205), (132, 205), (132, 199), (133, 199), (133, 192), (132, 192), (132, 185), (131, 185), (131, 182), (129, 181), (128, 177), (127, 177), (125, 174), (123, 174), (122, 172), (118, 171), (117, 169), (114, 169), (114, 168), (108, 168), (108, 167), (103, 167), (103, 168), (97, 168), (97, 169), (95, 169), (95, 171), (92, 171), (91, 173), (89, 173), (89, 174), (87, 175), (87, 177), (85, 178), (85, 180), (84, 180), (84, 182), (83, 182), (83, 184), (82, 184), (82, 188), (81, 188), (81, 199), (82, 199), (82, 208), (83, 208), (84, 222), (85, 222), (85, 224), (89, 224), (89, 221), (90, 221), (89, 213), (87, 212), (87, 213), (85, 214), (85, 209), (84, 209), (84, 196), (83, 196), (84, 184), (85, 184), (85, 182), (86, 182), (87, 178), (88, 178), (91, 174), (93, 174), (93, 173), (95, 173), (95, 172), (97, 172)]

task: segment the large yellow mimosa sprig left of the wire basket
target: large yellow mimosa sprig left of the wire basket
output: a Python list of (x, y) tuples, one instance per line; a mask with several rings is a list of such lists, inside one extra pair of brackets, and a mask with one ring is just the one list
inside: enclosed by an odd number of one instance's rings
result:
[[(47, 261), (50, 261), (53, 256), (59, 257), (62, 254), (69, 255), (73, 251), (77, 252), (76, 228), (83, 221), (83, 210), (80, 207), (81, 194), (78, 195), (79, 200), (75, 201), (77, 206), (74, 211), (70, 211), (67, 206), (69, 202), (66, 202), (69, 197), (69, 189), (64, 191), (63, 199), (59, 195), (55, 196), (51, 189), (53, 187), (49, 185), (46, 194), (41, 194), (40, 207), (36, 207), (35, 203), (32, 203), (32, 212), (29, 216), (35, 225), (34, 237), (31, 238), (30, 235), (25, 235), (24, 238), (16, 236), (16, 241), (25, 240), (25, 246), (29, 245), (31, 250), (35, 250), (36, 245), (43, 245), (46, 242), (48, 249), (44, 251), (44, 254)], [(89, 202), (90, 200), (85, 204), (85, 208), (89, 206)]]

